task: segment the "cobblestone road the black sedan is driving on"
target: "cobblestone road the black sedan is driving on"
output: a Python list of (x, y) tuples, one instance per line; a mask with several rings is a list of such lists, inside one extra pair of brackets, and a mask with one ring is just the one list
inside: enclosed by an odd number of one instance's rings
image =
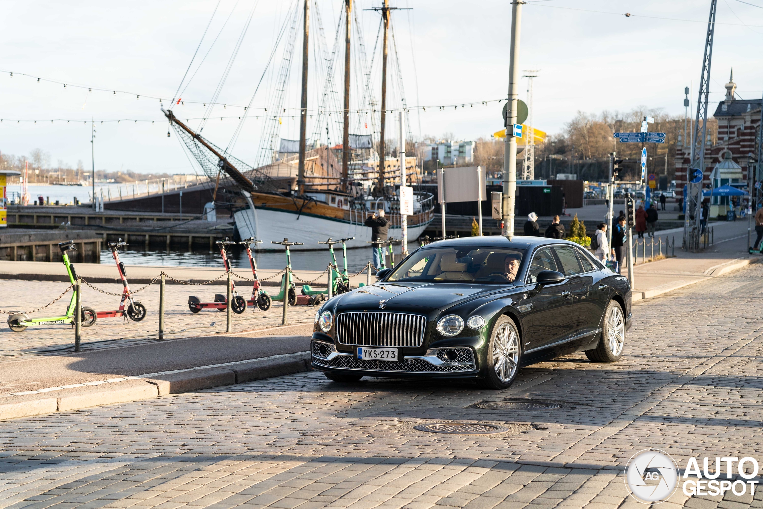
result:
[[(620, 362), (542, 362), (505, 391), (308, 372), (6, 421), (0, 507), (643, 507), (623, 482), (642, 449), (681, 469), (691, 457), (763, 463), (761, 298), (754, 265), (644, 301)], [(510, 398), (560, 408), (475, 407)], [(431, 420), (511, 426), (415, 430)], [(680, 506), (763, 507), (763, 491), (679, 487), (658, 505)]]

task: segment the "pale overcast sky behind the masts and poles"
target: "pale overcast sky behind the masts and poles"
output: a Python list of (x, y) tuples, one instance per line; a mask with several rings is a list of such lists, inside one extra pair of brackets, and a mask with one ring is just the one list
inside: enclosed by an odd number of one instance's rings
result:
[[(204, 56), (214, 37), (220, 36), (182, 93), (184, 100), (210, 101), (256, 5), (218, 98), (222, 103), (246, 105), (266, 69), (275, 37), (292, 1), (221, 0), (214, 18), (216, 0), (2, 2), (0, 150), (28, 155), (39, 147), (50, 153), (53, 164), (62, 160), (73, 166), (81, 159), (85, 168), (89, 168), (90, 125), (82, 121), (91, 117), (97, 122), (153, 120), (155, 124), (132, 121), (96, 124), (95, 166), (139, 172), (192, 172), (175, 134), (166, 135), (168, 126), (159, 111), (158, 99), (89, 92), (71, 85), (165, 98), (165, 105), (169, 105), (169, 98), (178, 89), (211, 19), (199, 55)], [(732, 66), (737, 92), (742, 98), (757, 98), (763, 92), (763, 69), (758, 54), (763, 43), (763, 0), (745, 1), (748, 3), (719, 1), (711, 101), (723, 98), (723, 84), (728, 81)], [(362, 9), (380, 5), (381, 0), (356, 0), (354, 4), (361, 18), (366, 50), (371, 53), (379, 15)], [(413, 8), (392, 14), (409, 107), (506, 96), (509, 2), (390, 0), (390, 4)], [(540, 69), (534, 89), (536, 127), (556, 133), (577, 111), (629, 111), (639, 105), (683, 114), (684, 86), (690, 82), (694, 85), (692, 109), (696, 108), (709, 7), (709, 0), (547, 0), (524, 5), (520, 68)], [(315, 40), (316, 17), (320, 14), (327, 45), (332, 45), (342, 8), (343, 0), (317, 0), (318, 12), (314, 11), (311, 20)], [(626, 17), (626, 12), (633, 15)], [(276, 63), (280, 56), (279, 49)], [(297, 38), (286, 90), (287, 107), (298, 106), (300, 59), (301, 36)], [(378, 72), (378, 63), (377, 60), (374, 64), (374, 72)], [(19, 75), (11, 77), (8, 72), (27, 73), (69, 86), (64, 88)], [(323, 82), (313, 79), (320, 75), (320, 70), (311, 68), (311, 72), (310, 107), (317, 108)], [(272, 70), (266, 72), (253, 106), (272, 104), (269, 93), (274, 88), (275, 74)], [(396, 74), (394, 79), (397, 80)], [(378, 95), (380, 79), (374, 75), (373, 81)], [(520, 98), (524, 98), (525, 89), (523, 80)], [(390, 103), (399, 104), (399, 92), (391, 95), (394, 97), (389, 99)], [(202, 105), (174, 108), (179, 118), (202, 117), (205, 111)], [(235, 117), (240, 111), (215, 108), (210, 116), (214, 118), (216, 114), (217, 121), (208, 121), (204, 136), (226, 147), (238, 121), (219, 118)], [(472, 108), (427, 108), (425, 112), (411, 111), (410, 130), (414, 136), (452, 133), (457, 139), (469, 140), (500, 129), (500, 115), (501, 105), (496, 102)], [(72, 122), (51, 123), (50, 119)], [(37, 120), (37, 124), (16, 120)], [(199, 127), (198, 121), (191, 125)], [(246, 121), (233, 150), (236, 156), (254, 162), (263, 125), (262, 118)], [(280, 127), (282, 137), (298, 137), (298, 120), (292, 121), (288, 113)]]

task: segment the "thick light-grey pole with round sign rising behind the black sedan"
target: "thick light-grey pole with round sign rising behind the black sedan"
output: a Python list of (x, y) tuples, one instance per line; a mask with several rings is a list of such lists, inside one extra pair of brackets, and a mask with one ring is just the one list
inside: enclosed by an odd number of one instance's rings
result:
[[(504, 142), (504, 195), (501, 200), (503, 227), (501, 234), (513, 240), (514, 198), (517, 194), (517, 138), (513, 136), (513, 124), (517, 123), (517, 95), (520, 76), (520, 23), (524, 2), (511, 2), (511, 47), (509, 53), (509, 106), (506, 112), (506, 141)], [(443, 233), (443, 237), (445, 234)]]

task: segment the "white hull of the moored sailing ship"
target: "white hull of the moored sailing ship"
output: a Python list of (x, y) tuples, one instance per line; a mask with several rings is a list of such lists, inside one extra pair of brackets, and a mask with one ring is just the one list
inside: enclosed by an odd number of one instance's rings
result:
[[(272, 244), (272, 240), (281, 241), (288, 238), (290, 242), (301, 242), (302, 246), (291, 246), (291, 250), (325, 250), (324, 241), (355, 237), (347, 242), (348, 248), (369, 247), (366, 243), (371, 240), (371, 228), (361, 222), (344, 221), (315, 214), (298, 214), (293, 211), (279, 211), (274, 208), (251, 208), (233, 214), (236, 227), (242, 239), (255, 237), (262, 240), (257, 244), (257, 250), (281, 250), (282, 246)], [(408, 227), (408, 242), (414, 242), (423, 234), (431, 222)], [(390, 225), (389, 237), (402, 237), (400, 225)]]

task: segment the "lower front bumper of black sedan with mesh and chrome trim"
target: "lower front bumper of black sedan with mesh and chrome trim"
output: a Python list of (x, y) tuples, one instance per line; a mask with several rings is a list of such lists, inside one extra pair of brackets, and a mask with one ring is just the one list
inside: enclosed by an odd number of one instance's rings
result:
[[(457, 353), (456, 359), (445, 357), (448, 350)], [(427, 350), (423, 356), (407, 356), (398, 361), (357, 359), (354, 353), (340, 353), (332, 343), (313, 340), (311, 343), (312, 366), (327, 372), (356, 372), (370, 376), (446, 376), (474, 377), (477, 375), (477, 356), (468, 346), (449, 346)]]

